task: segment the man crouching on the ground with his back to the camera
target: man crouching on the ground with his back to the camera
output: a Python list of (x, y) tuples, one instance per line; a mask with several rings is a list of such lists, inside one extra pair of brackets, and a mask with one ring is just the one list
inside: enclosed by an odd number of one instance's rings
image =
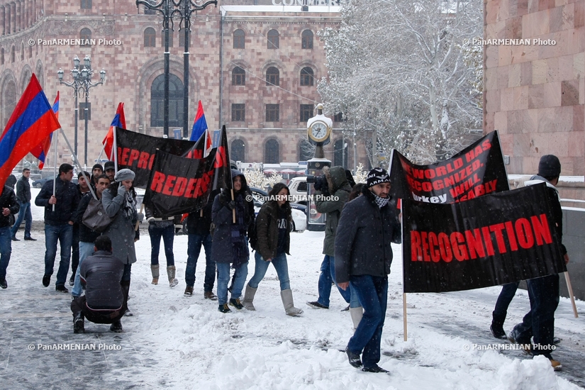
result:
[(84, 318), (92, 323), (111, 323), (112, 332), (122, 332), (121, 318), (126, 298), (121, 279), (124, 264), (112, 255), (112, 242), (106, 235), (96, 238), (95, 253), (79, 264), (85, 295), (71, 301), (73, 333), (84, 333)]

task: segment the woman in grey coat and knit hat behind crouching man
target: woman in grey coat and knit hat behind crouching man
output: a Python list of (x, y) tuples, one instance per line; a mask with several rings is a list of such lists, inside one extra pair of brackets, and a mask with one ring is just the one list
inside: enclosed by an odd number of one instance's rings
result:
[[(136, 212), (136, 191), (133, 187), (134, 177), (135, 174), (130, 169), (120, 169), (114, 177), (115, 181), (104, 190), (101, 196), (104, 210), (110, 218), (113, 218), (103, 234), (112, 240), (114, 257), (124, 263), (121, 284), (125, 301), (128, 301), (130, 291), (130, 269), (136, 262), (134, 243), (140, 240), (140, 231), (135, 229), (138, 213)], [(132, 316), (129, 309), (127, 309), (127, 315)]]

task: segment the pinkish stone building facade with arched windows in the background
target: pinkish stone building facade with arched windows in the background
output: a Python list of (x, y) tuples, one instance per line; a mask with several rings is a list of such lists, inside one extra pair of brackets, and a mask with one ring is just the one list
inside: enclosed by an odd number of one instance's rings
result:
[[(189, 49), (189, 133), (201, 100), (208, 127), (228, 128), (233, 157), (247, 162), (298, 162), (311, 157), (306, 118), (319, 102), (317, 82), (326, 77), (318, 31), (336, 28), (339, 7), (274, 6), (272, 1), (219, 1), (191, 16)], [(130, 130), (162, 136), (164, 35), (162, 16), (135, 1), (0, 0), (0, 124), (35, 73), (50, 103), (60, 91), (60, 123), (74, 143), (73, 90), (69, 69), (77, 55), (91, 57), (94, 81), (106, 70), (106, 82), (89, 91), (88, 165), (101, 150), (118, 102), (125, 104)], [(175, 24), (169, 45), (169, 133), (182, 128), (184, 35)], [(82, 41), (79, 41), (82, 39)], [(76, 41), (77, 40), (77, 41)], [(81, 44), (80, 44), (81, 43)], [(89, 43), (89, 44), (84, 44)], [(84, 96), (79, 110), (78, 156), (84, 155)], [(335, 113), (325, 113), (333, 117)], [(345, 123), (334, 122), (333, 142), (325, 157), (353, 166), (352, 139), (342, 139)], [(367, 165), (363, 145), (357, 162)], [(59, 161), (70, 162), (61, 142)], [(50, 153), (48, 166), (52, 166)]]

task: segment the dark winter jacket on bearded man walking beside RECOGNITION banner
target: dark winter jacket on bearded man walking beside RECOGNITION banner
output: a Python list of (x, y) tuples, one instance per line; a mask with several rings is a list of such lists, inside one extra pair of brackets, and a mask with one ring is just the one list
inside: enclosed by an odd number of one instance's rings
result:
[(349, 282), (352, 275), (385, 277), (390, 273), (392, 248), (401, 242), (396, 202), (379, 208), (374, 194), (365, 188), (363, 196), (350, 201), (341, 212), (335, 235), (335, 280)]

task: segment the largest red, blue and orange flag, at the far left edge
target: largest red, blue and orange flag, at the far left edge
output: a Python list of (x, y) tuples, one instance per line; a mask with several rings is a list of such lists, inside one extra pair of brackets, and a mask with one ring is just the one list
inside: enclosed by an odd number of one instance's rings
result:
[(60, 127), (33, 74), (0, 137), (0, 188), (18, 162)]

